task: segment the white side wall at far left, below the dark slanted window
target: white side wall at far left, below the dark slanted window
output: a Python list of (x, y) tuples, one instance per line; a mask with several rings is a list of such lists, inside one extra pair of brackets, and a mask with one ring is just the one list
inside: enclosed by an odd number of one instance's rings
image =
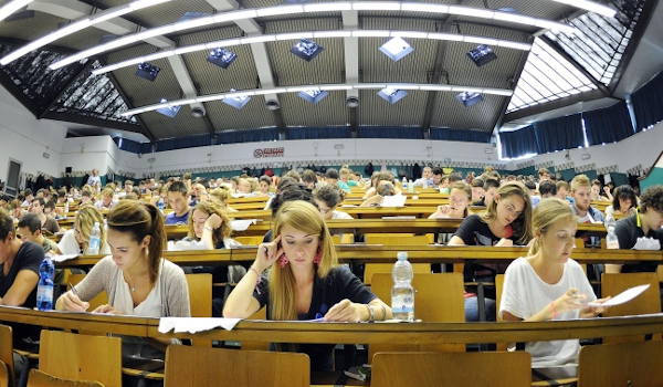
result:
[[(0, 179), (7, 180), (9, 159), (22, 163), (21, 171), (60, 176), (61, 149), (66, 127), (36, 119), (4, 87), (0, 87)], [(48, 147), (48, 148), (46, 148)], [(46, 159), (43, 154), (48, 153)]]

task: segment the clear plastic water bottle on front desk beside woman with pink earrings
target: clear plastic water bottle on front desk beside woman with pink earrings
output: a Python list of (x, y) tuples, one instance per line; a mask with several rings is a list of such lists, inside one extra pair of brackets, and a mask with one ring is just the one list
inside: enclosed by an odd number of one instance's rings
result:
[(414, 289), (412, 279), (414, 272), (408, 261), (408, 253), (401, 251), (398, 253), (398, 261), (391, 270), (393, 287), (391, 287), (391, 313), (393, 318), (408, 322), (414, 321)]

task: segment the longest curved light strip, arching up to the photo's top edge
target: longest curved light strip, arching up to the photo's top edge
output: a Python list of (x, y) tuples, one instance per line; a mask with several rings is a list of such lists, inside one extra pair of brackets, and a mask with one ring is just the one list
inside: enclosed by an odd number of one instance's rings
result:
[[(370, 9), (380, 7), (379, 10), (388, 10), (388, 9), (399, 10), (400, 9), (402, 11), (404, 6), (406, 4), (401, 3), (400, 1), (390, 1), (390, 2), (376, 2), (376, 1), (336, 2), (336, 1), (334, 1), (334, 2), (328, 2), (328, 3), (304, 4), (302, 7), (302, 12), (303, 13), (306, 13), (306, 12), (339, 12), (339, 11), (344, 11), (344, 10), (352, 10), (352, 7), (358, 7), (358, 8), (364, 7), (364, 8), (370, 8)], [(414, 6), (417, 6), (417, 7), (414, 7)], [(424, 6), (424, 4), (422, 4), (422, 6)], [(428, 4), (425, 4), (425, 6), (428, 6)], [(282, 7), (282, 6), (277, 6), (277, 7)], [(567, 32), (567, 33), (573, 33), (573, 31), (576, 30), (572, 25), (569, 25), (566, 23), (560, 23), (557, 21), (546, 20), (546, 19), (518, 17), (516, 14), (508, 13), (508, 12), (482, 10), (482, 9), (477, 9), (477, 8), (473, 8), (473, 7), (461, 7), (461, 6), (445, 6), (445, 7), (449, 8), (448, 13), (464, 14), (464, 15), (470, 15), (470, 17), (477, 18), (477, 19), (503, 20), (503, 21), (508, 21), (508, 22), (513, 22), (513, 23), (534, 25), (534, 27), (538, 27), (538, 28), (543, 28), (543, 29), (550, 29), (554, 31), (560, 31), (560, 32)], [(267, 9), (269, 9), (269, 7), (261, 8), (260, 10), (261, 10), (261, 12), (265, 12)], [(419, 7), (419, 4), (417, 4), (417, 3), (412, 3), (412, 6), (410, 6), (409, 9), (412, 9), (414, 12), (424, 12), (425, 10), (428, 10), (429, 12), (433, 12), (433, 10), (435, 10), (434, 12), (439, 13), (439, 11), (436, 11), (438, 9), (435, 9), (435, 8)], [(407, 11), (409, 11), (409, 9)], [(453, 12), (452, 12), (452, 9), (453, 9)], [(291, 15), (295, 15), (295, 14), (296, 14), (296, 12), (291, 13)], [(169, 32), (173, 32), (173, 31), (183, 31), (183, 30), (206, 27), (206, 25), (210, 25), (210, 24), (214, 24), (214, 23), (239, 21), (239, 20), (252, 19), (252, 18), (256, 18), (256, 17), (257, 17), (257, 9), (256, 10), (240, 10), (240, 11), (223, 12), (223, 13), (214, 14), (212, 17), (199, 18), (199, 19), (183, 21), (183, 22), (175, 22), (172, 24), (168, 24), (168, 25), (156, 28), (156, 29), (146, 30), (143, 32), (127, 35), (127, 36), (125, 36), (126, 39), (118, 39), (118, 40), (114, 41), (114, 42), (117, 42), (116, 45), (97, 45), (97, 46), (81, 51), (77, 54), (67, 56), (61, 61), (57, 61), (57, 62), (51, 64), (49, 67), (51, 70), (56, 70), (56, 69), (60, 69), (67, 64), (74, 63), (81, 59), (90, 57), (90, 56), (93, 56), (93, 55), (96, 55), (96, 54), (99, 54), (99, 53), (103, 53), (103, 52), (106, 52), (109, 50), (115, 50), (115, 49), (118, 49), (124, 45), (134, 44), (137, 41), (147, 39), (146, 36), (155, 36), (155, 34), (151, 32), (152, 30), (157, 30), (159, 33), (169, 33)], [(182, 23), (186, 23), (186, 24), (182, 24)]]

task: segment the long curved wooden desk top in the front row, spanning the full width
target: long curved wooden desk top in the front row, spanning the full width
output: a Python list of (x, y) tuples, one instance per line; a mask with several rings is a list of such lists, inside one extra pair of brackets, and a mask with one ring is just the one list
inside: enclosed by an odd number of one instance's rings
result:
[(544, 323), (320, 324), (242, 321), (232, 331), (217, 328), (196, 334), (161, 334), (158, 332), (159, 318), (39, 312), (9, 306), (0, 306), (0, 321), (141, 337), (335, 344), (514, 343), (663, 332), (662, 314)]

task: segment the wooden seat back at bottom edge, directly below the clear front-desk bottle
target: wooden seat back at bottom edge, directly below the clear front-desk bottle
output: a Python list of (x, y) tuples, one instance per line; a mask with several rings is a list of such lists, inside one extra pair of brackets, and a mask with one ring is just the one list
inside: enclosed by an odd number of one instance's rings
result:
[(379, 353), (371, 387), (529, 387), (532, 357), (526, 352)]

